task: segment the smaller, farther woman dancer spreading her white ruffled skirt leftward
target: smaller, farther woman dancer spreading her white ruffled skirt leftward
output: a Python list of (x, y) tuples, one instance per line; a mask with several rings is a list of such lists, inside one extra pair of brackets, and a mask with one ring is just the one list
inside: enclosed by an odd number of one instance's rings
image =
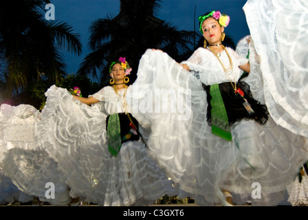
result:
[[(153, 204), (166, 194), (176, 195), (172, 182), (148, 157), (138, 123), (129, 114), (125, 101), (129, 87), (124, 83), (128, 67), (125, 58), (113, 63), (113, 85), (89, 98), (73, 98), (67, 89), (50, 87), (41, 113), (27, 105), (3, 104), (1, 134), (5, 138), (1, 138), (1, 150), (5, 154), (1, 165), (5, 175), (18, 186), (23, 181), (21, 189), (29, 195), (38, 196), (38, 190), (45, 192), (46, 182), (53, 182), (58, 192), (57, 184), (62, 182), (70, 197), (101, 206), (142, 206)], [(23, 118), (19, 117), (22, 107), (32, 110)], [(8, 115), (3, 109), (12, 111)], [(29, 118), (32, 122), (27, 124)], [(8, 124), (12, 120), (19, 120), (15, 129)], [(9, 141), (6, 137), (12, 138)], [(14, 142), (15, 137), (21, 141)], [(26, 157), (32, 166), (15, 166), (17, 157)], [(25, 173), (29, 178), (16, 173)], [(46, 177), (40, 179), (43, 174)], [(33, 186), (30, 177), (35, 179)]]

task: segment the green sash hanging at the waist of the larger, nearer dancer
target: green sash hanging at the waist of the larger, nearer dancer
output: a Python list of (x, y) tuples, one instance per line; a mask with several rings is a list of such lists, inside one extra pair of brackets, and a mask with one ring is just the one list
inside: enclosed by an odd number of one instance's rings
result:
[(218, 84), (210, 86), (210, 96), (212, 96), (210, 100), (212, 107), (212, 133), (225, 140), (232, 141), (228, 115), (227, 111), (225, 111), (225, 104), (223, 104)]

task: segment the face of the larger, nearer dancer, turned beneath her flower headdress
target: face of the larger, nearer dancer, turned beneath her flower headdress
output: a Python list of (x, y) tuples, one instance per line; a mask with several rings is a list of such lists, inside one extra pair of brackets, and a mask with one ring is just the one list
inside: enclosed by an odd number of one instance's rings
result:
[(208, 41), (208, 43), (221, 43), (221, 33), (225, 29), (219, 25), (216, 19), (209, 17), (203, 21), (201, 28), (203, 30), (203, 37), (206, 39), (206, 41)]

